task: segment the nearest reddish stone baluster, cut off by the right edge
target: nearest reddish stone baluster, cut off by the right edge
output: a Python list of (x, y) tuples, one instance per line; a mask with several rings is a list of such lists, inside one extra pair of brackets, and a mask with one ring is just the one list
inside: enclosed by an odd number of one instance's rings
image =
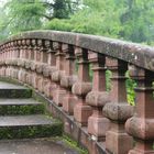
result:
[(135, 141), (129, 154), (154, 154), (154, 73), (132, 66), (130, 75), (136, 80), (136, 113), (125, 123), (125, 129)]

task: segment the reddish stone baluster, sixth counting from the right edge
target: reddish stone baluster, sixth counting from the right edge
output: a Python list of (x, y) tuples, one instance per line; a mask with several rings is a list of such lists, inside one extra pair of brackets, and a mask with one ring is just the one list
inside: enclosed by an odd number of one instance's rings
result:
[(63, 97), (66, 90), (61, 87), (61, 79), (64, 76), (65, 54), (62, 51), (62, 43), (53, 42), (53, 47), (56, 51), (56, 72), (52, 74), (52, 80), (56, 84), (56, 88), (52, 90), (53, 100), (57, 106), (63, 106)]

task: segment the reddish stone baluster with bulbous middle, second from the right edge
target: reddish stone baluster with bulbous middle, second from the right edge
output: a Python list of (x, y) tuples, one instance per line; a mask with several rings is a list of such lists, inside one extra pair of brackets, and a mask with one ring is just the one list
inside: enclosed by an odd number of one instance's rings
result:
[(125, 121), (133, 116), (133, 107), (127, 100), (125, 72), (127, 62), (108, 58), (107, 66), (112, 72), (111, 102), (103, 108), (105, 114), (111, 120), (111, 129), (106, 134), (106, 148), (114, 154), (128, 154), (132, 148), (133, 140), (127, 134)]

